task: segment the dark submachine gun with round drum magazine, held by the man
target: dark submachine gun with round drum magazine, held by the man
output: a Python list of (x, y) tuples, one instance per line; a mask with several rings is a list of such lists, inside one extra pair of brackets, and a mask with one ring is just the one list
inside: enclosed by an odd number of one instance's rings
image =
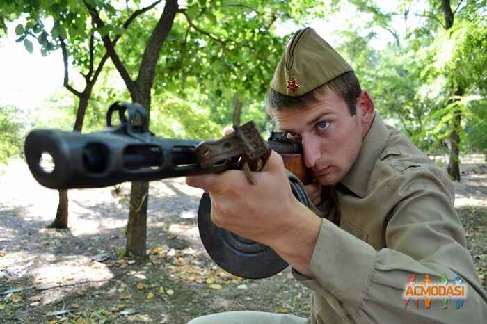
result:
[[(114, 125), (113, 113), (120, 124)], [(33, 130), (26, 137), (24, 152), (35, 179), (51, 189), (102, 188), (125, 181), (154, 181), (243, 169), (249, 181), (260, 171), (271, 149), (282, 156), (295, 197), (312, 208), (303, 183), (310, 182), (302, 160), (302, 147), (282, 133), (266, 142), (253, 122), (234, 126), (219, 140), (159, 138), (148, 129), (147, 113), (138, 104), (115, 102), (106, 113), (107, 129), (77, 133), (52, 129)], [(49, 154), (54, 168), (42, 165)], [(301, 181), (300, 181), (301, 179)], [(233, 275), (264, 278), (288, 264), (266, 245), (250, 241), (211, 222), (211, 200), (202, 195), (198, 228), (203, 245), (216, 264)]]

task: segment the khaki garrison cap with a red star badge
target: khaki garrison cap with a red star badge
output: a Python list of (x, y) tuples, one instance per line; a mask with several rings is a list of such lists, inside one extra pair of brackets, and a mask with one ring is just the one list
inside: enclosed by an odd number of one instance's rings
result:
[(345, 72), (349, 63), (314, 29), (299, 29), (287, 42), (271, 81), (271, 88), (291, 97), (305, 95)]

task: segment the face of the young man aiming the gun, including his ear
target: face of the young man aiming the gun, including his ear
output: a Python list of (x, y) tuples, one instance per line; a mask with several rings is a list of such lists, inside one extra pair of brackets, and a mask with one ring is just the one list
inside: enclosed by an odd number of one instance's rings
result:
[(360, 152), (374, 115), (367, 92), (360, 94), (356, 108), (352, 116), (346, 102), (327, 89), (317, 103), (291, 111), (273, 111), (278, 128), (303, 145), (305, 165), (323, 186), (337, 184)]

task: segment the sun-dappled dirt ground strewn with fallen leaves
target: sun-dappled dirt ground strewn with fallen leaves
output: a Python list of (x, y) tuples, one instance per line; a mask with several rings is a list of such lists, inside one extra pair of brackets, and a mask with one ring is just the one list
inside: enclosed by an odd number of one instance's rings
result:
[[(465, 156), (462, 177), (456, 209), (486, 289), (484, 156)], [(123, 258), (128, 193), (128, 184), (115, 197), (111, 188), (72, 190), (70, 229), (47, 229), (58, 192), (38, 185), (22, 160), (0, 170), (0, 323), (179, 324), (243, 309), (309, 315), (310, 291), (289, 268), (241, 280), (211, 261), (198, 234), (202, 191), (182, 178), (150, 184), (149, 257)]]

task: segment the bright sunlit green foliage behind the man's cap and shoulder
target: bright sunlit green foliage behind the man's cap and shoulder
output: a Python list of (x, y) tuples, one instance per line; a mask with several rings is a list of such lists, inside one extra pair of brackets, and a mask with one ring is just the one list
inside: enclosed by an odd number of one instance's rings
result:
[[(438, 1), (415, 8), (417, 1), (398, 0), (391, 11), (376, 1), (351, 2), (358, 15), (344, 24), (341, 50), (381, 115), (432, 152), (445, 148), (459, 112), (461, 149), (485, 149), (486, 1), (452, 0), (448, 30)], [(378, 31), (391, 36), (385, 49), (372, 45)]]

